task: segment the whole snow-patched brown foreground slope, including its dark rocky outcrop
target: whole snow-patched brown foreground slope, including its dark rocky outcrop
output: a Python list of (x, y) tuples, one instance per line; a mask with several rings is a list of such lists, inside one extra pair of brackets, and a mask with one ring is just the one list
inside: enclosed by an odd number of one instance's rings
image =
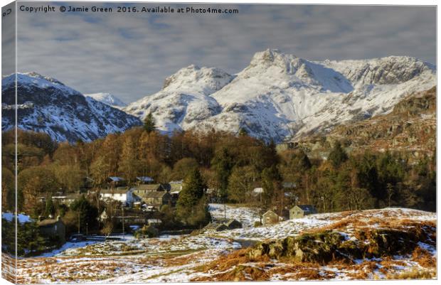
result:
[[(218, 212), (223, 207), (220, 206), (210, 206), (214, 217), (221, 215)], [(63, 249), (41, 257), (18, 259), (18, 282), (436, 277), (435, 213), (405, 208), (323, 213), (267, 227), (250, 225), (255, 212), (247, 207), (228, 206), (226, 215), (243, 222), (244, 228), (144, 240), (129, 237), (125, 241), (68, 243)], [(241, 244), (245, 244), (245, 239), (250, 236), (257, 244), (243, 247)], [(282, 242), (284, 240), (293, 243), (289, 245), (289, 242)], [(315, 242), (317, 240), (321, 242)], [(297, 249), (289, 249), (295, 242)], [(309, 250), (304, 244), (309, 244)], [(358, 244), (357, 247), (353, 247), (354, 244)], [(287, 248), (290, 251), (284, 251)], [(351, 255), (344, 257), (344, 252), (334, 252), (335, 258), (330, 260), (334, 249), (344, 249)], [(11, 262), (6, 255), (3, 258)], [(303, 262), (300, 259), (304, 259)]]

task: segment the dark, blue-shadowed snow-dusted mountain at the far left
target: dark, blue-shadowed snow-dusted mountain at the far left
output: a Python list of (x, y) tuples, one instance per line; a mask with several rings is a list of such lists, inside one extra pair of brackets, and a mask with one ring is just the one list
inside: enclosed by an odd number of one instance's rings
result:
[(142, 124), (137, 117), (36, 72), (17, 73), (17, 102), (15, 75), (2, 78), (1, 91), (3, 131), (14, 127), (15, 109), (18, 128), (45, 132), (57, 141), (92, 141)]

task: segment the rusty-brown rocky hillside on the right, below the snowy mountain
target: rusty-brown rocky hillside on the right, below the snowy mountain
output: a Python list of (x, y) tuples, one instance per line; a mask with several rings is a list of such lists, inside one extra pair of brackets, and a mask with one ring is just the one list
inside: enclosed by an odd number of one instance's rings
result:
[(309, 153), (324, 153), (340, 140), (349, 150), (404, 151), (432, 155), (436, 145), (436, 87), (415, 92), (395, 104), (386, 115), (342, 124), (326, 136), (298, 141)]

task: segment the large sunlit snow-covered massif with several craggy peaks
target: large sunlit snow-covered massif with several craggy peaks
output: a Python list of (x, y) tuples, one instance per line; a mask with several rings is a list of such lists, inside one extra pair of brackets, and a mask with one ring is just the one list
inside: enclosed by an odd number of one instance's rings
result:
[(142, 119), (152, 112), (163, 131), (243, 128), (281, 141), (386, 114), (434, 85), (435, 67), (415, 58), (317, 62), (268, 49), (235, 76), (193, 65), (181, 69), (161, 91), (124, 110)]

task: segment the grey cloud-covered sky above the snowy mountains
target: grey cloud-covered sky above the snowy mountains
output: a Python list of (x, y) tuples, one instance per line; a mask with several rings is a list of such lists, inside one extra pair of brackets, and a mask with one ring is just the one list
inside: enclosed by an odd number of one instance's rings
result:
[(409, 55), (435, 64), (435, 7), (225, 6), (239, 14), (18, 12), (18, 71), (128, 103), (159, 91), (166, 77), (187, 65), (235, 73), (266, 48), (309, 60)]

